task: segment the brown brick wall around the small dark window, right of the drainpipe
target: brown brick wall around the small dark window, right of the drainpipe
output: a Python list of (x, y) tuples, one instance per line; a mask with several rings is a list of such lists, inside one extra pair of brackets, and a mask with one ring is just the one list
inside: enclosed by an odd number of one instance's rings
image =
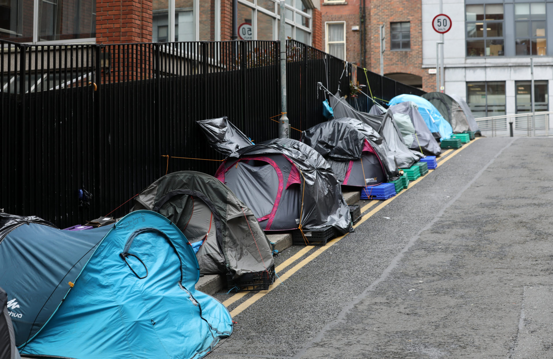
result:
[[(429, 75), (427, 69), (422, 69), (422, 13), (421, 0), (372, 0), (370, 32), (368, 34), (371, 46), (371, 71), (380, 73), (380, 24), (384, 24), (386, 51), (384, 53), (384, 74), (404, 72), (422, 77), (422, 89), (435, 91), (436, 77)], [(411, 50), (390, 51), (390, 23), (410, 22)]]

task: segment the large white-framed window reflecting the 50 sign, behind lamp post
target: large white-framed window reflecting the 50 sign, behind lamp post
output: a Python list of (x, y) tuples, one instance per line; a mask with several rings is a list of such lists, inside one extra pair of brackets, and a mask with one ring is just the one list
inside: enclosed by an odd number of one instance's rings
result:
[[(311, 45), (311, 9), (302, 0), (286, 0), (286, 37)], [(239, 40), (278, 40), (280, 6), (273, 0), (238, 0)]]

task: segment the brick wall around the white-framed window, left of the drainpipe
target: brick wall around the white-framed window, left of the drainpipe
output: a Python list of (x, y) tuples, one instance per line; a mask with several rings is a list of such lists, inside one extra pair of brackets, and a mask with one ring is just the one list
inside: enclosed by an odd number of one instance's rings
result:
[[(346, 22), (346, 60), (350, 63), (354, 63), (357, 66), (361, 66), (362, 63), (362, 49), (361, 49), (361, 31), (362, 24), (359, 19), (359, 2), (361, 0), (348, 0), (344, 4), (325, 4), (321, 1), (322, 12), (322, 50), (326, 50), (326, 22), (330, 21), (345, 21)], [(367, 19), (367, 34), (369, 33), (369, 9), (371, 2), (366, 0), (366, 19)], [(358, 26), (359, 30), (353, 31), (352, 26)], [(368, 39), (367, 35), (367, 39)], [(368, 53), (370, 43), (367, 43), (367, 56), (366, 65), (368, 67), (370, 56)]]

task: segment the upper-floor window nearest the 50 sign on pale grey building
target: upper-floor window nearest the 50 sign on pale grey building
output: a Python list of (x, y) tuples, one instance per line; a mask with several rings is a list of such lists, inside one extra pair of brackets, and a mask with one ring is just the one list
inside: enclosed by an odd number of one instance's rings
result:
[(466, 6), (467, 56), (503, 56), (503, 4)]

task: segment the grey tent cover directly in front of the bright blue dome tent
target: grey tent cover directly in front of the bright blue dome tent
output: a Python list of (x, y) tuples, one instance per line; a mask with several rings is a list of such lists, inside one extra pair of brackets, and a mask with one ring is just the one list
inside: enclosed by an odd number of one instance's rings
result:
[[(373, 108), (378, 108), (378, 106), (373, 106), (371, 110)], [(418, 152), (422, 150), (422, 153), (433, 156), (442, 152), (440, 144), (432, 136), (419, 113), (418, 106), (414, 102), (401, 102), (390, 106), (388, 110), (394, 114), (394, 121), (410, 149)]]

